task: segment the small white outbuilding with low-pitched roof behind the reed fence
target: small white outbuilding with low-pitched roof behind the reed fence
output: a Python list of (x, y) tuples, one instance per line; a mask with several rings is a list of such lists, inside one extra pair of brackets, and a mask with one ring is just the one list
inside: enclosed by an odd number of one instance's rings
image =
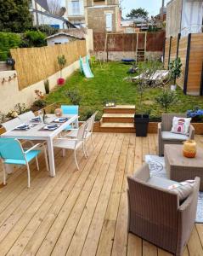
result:
[(71, 32), (59, 32), (57, 34), (49, 36), (46, 39), (47, 39), (48, 45), (54, 45), (54, 44), (67, 44), (70, 41), (75, 41), (78, 39), (82, 40), (84, 38), (81, 38), (76, 34), (73, 35)]

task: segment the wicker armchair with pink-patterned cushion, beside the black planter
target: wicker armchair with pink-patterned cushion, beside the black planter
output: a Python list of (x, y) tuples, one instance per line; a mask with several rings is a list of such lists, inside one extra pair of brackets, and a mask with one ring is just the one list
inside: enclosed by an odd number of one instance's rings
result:
[(161, 123), (158, 124), (158, 152), (160, 156), (164, 154), (165, 144), (182, 144), (183, 141), (195, 137), (193, 125), (189, 127), (189, 136), (170, 132), (172, 130), (172, 119), (175, 116), (186, 118), (184, 113), (164, 113), (162, 114)]

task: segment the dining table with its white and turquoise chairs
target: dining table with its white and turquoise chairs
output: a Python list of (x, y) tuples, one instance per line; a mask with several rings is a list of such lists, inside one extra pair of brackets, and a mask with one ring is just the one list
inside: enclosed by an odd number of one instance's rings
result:
[[(61, 109), (63, 113), (61, 117), (47, 114), (46, 119), (43, 120), (40, 115), (36, 117), (30, 111), (2, 124), (6, 130), (0, 138), (3, 184), (6, 184), (7, 176), (4, 165), (23, 165), (27, 167), (28, 187), (30, 187), (29, 162), (36, 159), (39, 170), (37, 156), (42, 151), (51, 177), (55, 176), (54, 148), (62, 148), (63, 156), (65, 149), (72, 150), (76, 160), (76, 150), (82, 147), (87, 158), (86, 143), (89, 137), (93, 143), (93, 123), (96, 113), (79, 126), (78, 106), (61, 106)], [(27, 148), (28, 143), (31, 145), (30, 148)], [(76, 167), (79, 170), (77, 160)]]

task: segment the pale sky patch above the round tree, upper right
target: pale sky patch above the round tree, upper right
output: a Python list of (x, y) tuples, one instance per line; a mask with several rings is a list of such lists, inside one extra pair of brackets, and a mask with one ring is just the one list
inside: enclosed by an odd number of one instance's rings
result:
[[(165, 0), (165, 5), (170, 0)], [(162, 5), (162, 0), (122, 0), (122, 15), (125, 16), (131, 9), (144, 8), (149, 12), (149, 15), (158, 15)]]

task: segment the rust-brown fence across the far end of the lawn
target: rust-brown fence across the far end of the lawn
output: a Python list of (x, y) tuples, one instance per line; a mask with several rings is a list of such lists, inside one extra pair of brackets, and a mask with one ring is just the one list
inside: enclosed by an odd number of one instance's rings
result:
[[(144, 48), (145, 34), (139, 34), (138, 47)], [(95, 51), (104, 51), (105, 46), (105, 33), (93, 33), (93, 48)], [(163, 51), (165, 40), (165, 32), (147, 32), (147, 51)], [(117, 33), (109, 34), (108, 36), (108, 49), (109, 51), (135, 51), (137, 46), (136, 33)]]

